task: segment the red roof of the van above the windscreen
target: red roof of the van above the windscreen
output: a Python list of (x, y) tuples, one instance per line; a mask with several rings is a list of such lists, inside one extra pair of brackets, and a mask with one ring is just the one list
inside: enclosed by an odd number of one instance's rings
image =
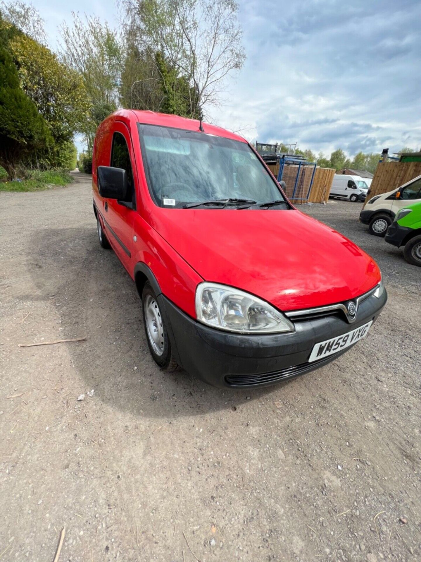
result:
[[(155, 111), (141, 111), (141, 110), (133, 110), (133, 109), (121, 109), (115, 111), (112, 115), (109, 115), (105, 121), (110, 119), (111, 117), (125, 117), (130, 121), (135, 120), (138, 123), (144, 125), (160, 125), (163, 127), (173, 127), (175, 129), (184, 129), (187, 131), (198, 131), (200, 121), (198, 119), (187, 119), (187, 117), (180, 117), (179, 115), (169, 115), (166, 113), (157, 113)], [(217, 125), (210, 125), (209, 123), (203, 123), (202, 126), (204, 132), (207, 134), (215, 135), (216, 137), (225, 137), (232, 140), (239, 140), (240, 142), (246, 143), (247, 140), (240, 137), (235, 133), (231, 133), (222, 127), (218, 127)]]

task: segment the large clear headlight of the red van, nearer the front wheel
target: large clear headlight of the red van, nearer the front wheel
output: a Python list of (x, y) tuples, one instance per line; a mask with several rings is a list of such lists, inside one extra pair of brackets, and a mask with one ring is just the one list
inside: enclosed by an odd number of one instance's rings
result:
[(248, 334), (294, 332), (282, 312), (268, 302), (240, 289), (217, 283), (200, 283), (196, 288), (196, 316), (212, 328)]

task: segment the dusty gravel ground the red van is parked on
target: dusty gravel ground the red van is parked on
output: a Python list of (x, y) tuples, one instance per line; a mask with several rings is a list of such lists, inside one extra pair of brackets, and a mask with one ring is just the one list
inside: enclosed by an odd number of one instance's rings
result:
[(89, 182), (0, 193), (1, 562), (63, 527), (60, 562), (420, 560), (421, 271), (359, 205), (309, 207), (374, 250), (387, 307), (325, 368), (222, 391), (150, 358)]

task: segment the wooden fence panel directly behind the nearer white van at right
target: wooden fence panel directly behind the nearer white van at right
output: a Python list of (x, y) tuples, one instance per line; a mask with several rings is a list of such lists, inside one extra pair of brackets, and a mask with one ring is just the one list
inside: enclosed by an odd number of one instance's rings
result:
[(421, 162), (384, 162), (378, 164), (364, 206), (375, 195), (393, 191), (393, 189), (419, 175), (421, 175)]

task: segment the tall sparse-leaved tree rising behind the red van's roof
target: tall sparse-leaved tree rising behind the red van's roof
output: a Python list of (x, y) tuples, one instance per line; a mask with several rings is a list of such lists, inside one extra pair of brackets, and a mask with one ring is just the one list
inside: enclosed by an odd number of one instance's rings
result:
[[(126, 35), (139, 53), (187, 81), (189, 113), (217, 104), (228, 74), (245, 60), (234, 0), (120, 0)], [(158, 74), (159, 68), (157, 67)], [(154, 73), (152, 73), (154, 74)], [(187, 93), (186, 92), (186, 93)]]

